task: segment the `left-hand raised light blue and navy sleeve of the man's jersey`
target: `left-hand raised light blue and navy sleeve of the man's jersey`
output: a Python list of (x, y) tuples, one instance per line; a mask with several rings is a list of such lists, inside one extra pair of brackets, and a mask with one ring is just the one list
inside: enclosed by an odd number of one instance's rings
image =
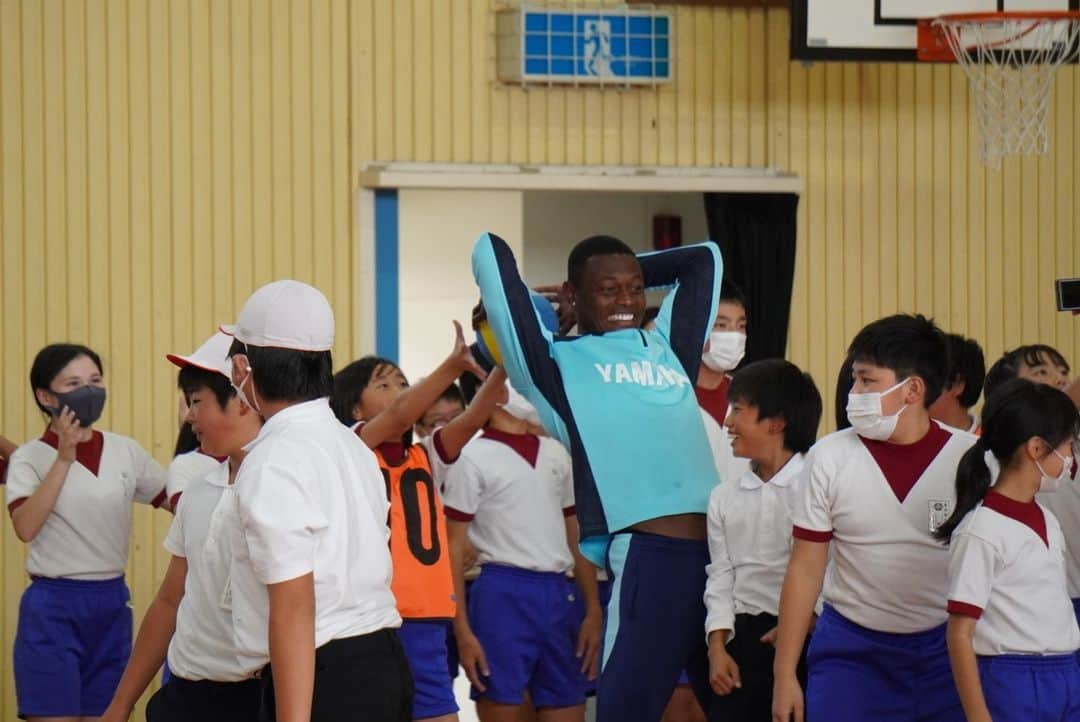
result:
[(544, 427), (565, 441), (569, 405), (552, 358), (554, 337), (540, 322), (513, 251), (499, 236), (485, 233), (473, 246), (472, 265), (510, 383), (537, 408)]

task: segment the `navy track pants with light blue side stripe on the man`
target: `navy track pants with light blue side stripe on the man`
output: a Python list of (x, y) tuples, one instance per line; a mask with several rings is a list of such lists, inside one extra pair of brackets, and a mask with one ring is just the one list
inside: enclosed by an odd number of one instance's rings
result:
[(616, 534), (608, 550), (611, 601), (597, 690), (598, 722), (659, 720), (686, 670), (707, 709), (704, 541)]

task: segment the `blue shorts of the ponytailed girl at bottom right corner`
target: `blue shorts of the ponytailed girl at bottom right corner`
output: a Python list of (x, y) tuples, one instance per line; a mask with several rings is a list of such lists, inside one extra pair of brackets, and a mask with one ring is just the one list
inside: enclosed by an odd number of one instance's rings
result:
[(978, 680), (994, 722), (1080, 720), (1076, 654), (978, 657)]

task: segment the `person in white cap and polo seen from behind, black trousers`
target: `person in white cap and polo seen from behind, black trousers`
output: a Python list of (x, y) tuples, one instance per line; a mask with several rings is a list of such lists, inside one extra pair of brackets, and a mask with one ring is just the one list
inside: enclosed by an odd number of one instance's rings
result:
[(390, 591), (386, 486), (330, 411), (334, 312), (315, 288), (256, 290), (233, 328), (232, 381), (266, 423), (237, 476), (231, 576), (238, 658), (260, 719), (411, 717)]

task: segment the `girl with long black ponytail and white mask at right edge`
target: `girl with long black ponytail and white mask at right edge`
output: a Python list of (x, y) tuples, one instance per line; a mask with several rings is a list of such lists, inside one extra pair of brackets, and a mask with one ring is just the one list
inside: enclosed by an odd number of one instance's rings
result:
[[(1080, 720), (1066, 540), (1035, 501), (1072, 483), (1078, 431), (1065, 394), (1009, 381), (987, 400), (983, 435), (957, 469), (957, 506), (937, 536), (950, 543), (948, 650), (969, 722)], [(996, 480), (984, 450), (1000, 464)]]

